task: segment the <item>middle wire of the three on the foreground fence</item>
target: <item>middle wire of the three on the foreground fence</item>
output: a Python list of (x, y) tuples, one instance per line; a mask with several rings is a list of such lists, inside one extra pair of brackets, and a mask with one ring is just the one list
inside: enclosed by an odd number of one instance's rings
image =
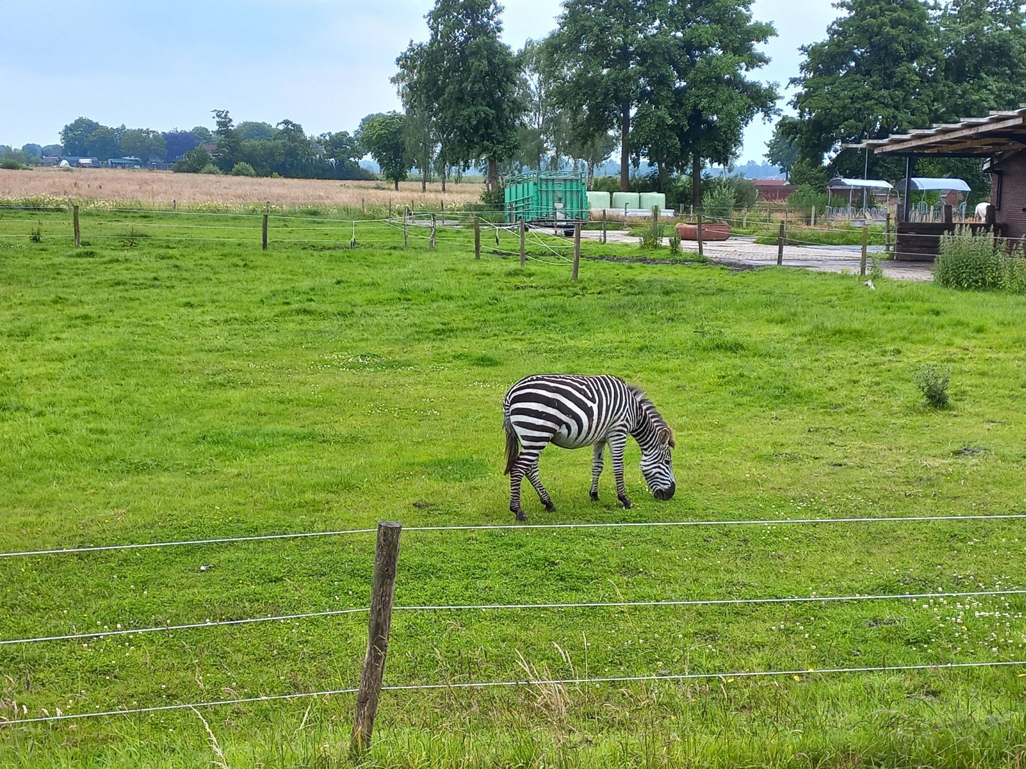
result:
[[(996, 596), (1023, 596), (1026, 590), (1003, 591), (964, 591), (956, 593), (903, 593), (897, 595), (871, 596), (795, 596), (791, 598), (699, 598), (677, 601), (614, 601), (609, 603), (585, 602), (565, 604), (465, 604), (465, 605), (424, 605), (424, 606), (393, 606), (392, 611), (521, 611), (527, 609), (630, 609), (661, 606), (749, 606), (758, 604), (807, 604), (807, 603), (857, 603), (860, 601), (917, 601), (935, 598), (993, 598)], [(120, 629), (116, 631), (96, 631), (95, 633), (73, 633), (65, 636), (41, 636), (38, 638), (12, 638), (0, 640), (0, 646), (44, 643), (48, 641), (79, 641), (83, 639), (109, 638), (111, 636), (136, 636), (148, 633), (171, 633), (173, 631), (189, 631), (201, 628), (221, 628), (226, 625), (254, 624), (258, 622), (277, 622), (294, 619), (315, 619), (346, 614), (366, 614), (368, 608), (328, 609), (326, 611), (310, 611), (302, 614), (280, 614), (267, 617), (251, 617), (246, 619), (208, 619), (204, 622), (189, 622), (187, 624), (162, 624), (155, 628), (139, 628), (135, 630)]]

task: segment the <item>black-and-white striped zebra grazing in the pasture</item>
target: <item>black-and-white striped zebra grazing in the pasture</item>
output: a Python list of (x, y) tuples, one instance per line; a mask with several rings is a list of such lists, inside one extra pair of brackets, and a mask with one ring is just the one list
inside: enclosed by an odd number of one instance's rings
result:
[[(520, 508), (520, 485), (526, 476), (542, 504), (555, 511), (538, 473), (538, 458), (548, 444), (561, 448), (594, 448), (591, 498), (598, 501), (602, 454), (609, 446), (617, 498), (630, 508), (624, 487), (624, 448), (633, 436), (641, 448), (641, 475), (657, 499), (672, 499), (677, 490), (670, 449), (673, 431), (644, 393), (618, 376), (540, 374), (521, 379), (503, 401), (506, 430), (506, 474), (510, 477), (510, 511), (526, 520)], [(522, 448), (522, 450), (521, 450)]]

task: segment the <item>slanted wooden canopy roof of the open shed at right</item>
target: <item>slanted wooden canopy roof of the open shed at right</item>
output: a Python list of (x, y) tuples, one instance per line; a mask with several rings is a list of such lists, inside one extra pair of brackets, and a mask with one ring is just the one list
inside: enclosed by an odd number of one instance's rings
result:
[(1026, 149), (1026, 105), (1017, 110), (992, 111), (985, 118), (962, 118), (930, 128), (871, 138), (845, 147), (870, 149), (877, 155), (993, 157)]

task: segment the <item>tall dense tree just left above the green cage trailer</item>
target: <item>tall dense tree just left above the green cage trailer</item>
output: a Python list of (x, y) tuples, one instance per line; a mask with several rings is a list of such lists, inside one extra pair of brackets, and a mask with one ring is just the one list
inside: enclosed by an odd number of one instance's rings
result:
[(443, 162), (485, 160), (492, 190), (499, 161), (515, 151), (520, 115), (517, 65), (500, 39), (501, 12), (496, 0), (435, 0), (428, 42), (410, 43), (396, 59), (397, 80), (435, 121)]

